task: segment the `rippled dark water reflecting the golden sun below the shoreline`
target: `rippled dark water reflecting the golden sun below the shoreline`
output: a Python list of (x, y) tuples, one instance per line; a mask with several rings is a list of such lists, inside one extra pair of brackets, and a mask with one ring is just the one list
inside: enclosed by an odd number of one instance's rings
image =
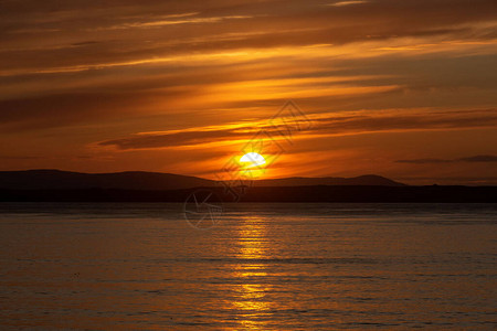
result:
[(0, 204), (0, 325), (497, 328), (497, 205)]

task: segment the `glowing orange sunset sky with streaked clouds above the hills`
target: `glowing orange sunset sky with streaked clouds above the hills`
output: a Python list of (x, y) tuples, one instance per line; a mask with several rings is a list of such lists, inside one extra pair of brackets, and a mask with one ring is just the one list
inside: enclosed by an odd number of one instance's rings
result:
[(495, 0), (0, 0), (0, 170), (497, 184)]

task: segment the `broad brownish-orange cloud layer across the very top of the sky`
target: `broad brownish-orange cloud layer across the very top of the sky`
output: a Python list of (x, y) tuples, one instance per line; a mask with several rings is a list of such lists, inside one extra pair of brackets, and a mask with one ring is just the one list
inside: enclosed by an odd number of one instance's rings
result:
[[(0, 12), (2, 72), (42, 74), (103, 70), (112, 64), (141, 66), (154, 58), (186, 57), (195, 52), (373, 40), (385, 41), (385, 49), (392, 39), (400, 38), (438, 36), (443, 42), (496, 39), (497, 4), (490, 0), (340, 1), (325, 8), (317, 0), (184, 1), (173, 7), (168, 1), (38, 2), (7, 1)], [(362, 4), (345, 6), (359, 2)], [(184, 24), (191, 26), (182, 29)], [(236, 38), (218, 39), (226, 34)], [(95, 44), (85, 44), (88, 40)]]

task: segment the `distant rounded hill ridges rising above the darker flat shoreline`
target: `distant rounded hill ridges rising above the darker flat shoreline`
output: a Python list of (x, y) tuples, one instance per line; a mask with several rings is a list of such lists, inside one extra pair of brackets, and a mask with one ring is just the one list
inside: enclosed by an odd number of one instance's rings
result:
[[(61, 170), (0, 171), (0, 189), (7, 190), (183, 190), (216, 186), (216, 181), (172, 173), (127, 171), (116, 173), (81, 173)], [(369, 185), (403, 186), (379, 175), (356, 178), (285, 178), (260, 180), (255, 186)]]

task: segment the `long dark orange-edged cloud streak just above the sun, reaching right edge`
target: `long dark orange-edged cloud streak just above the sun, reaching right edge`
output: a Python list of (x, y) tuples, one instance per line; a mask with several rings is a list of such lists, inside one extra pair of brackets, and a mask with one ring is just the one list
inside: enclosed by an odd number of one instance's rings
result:
[[(287, 118), (288, 120), (295, 120)], [(303, 119), (297, 119), (303, 120)], [(398, 115), (388, 111), (361, 111), (356, 114), (334, 115), (321, 114), (310, 117), (313, 127), (302, 131), (297, 137), (331, 137), (361, 135), (364, 132), (405, 131), (405, 130), (447, 130), (462, 128), (495, 127), (497, 113), (491, 110), (479, 111), (445, 111), (435, 114)], [(114, 146), (117, 149), (149, 149), (183, 146), (201, 146), (212, 142), (232, 142), (248, 140), (258, 130), (264, 130), (275, 139), (282, 139), (283, 126), (271, 126), (264, 121), (254, 121), (246, 125), (221, 125), (191, 128), (188, 130), (172, 130), (166, 132), (140, 132), (127, 138), (110, 139), (98, 142), (99, 146)], [(279, 136), (278, 136), (279, 135)], [(476, 162), (480, 159), (465, 160)], [(400, 160), (404, 163), (436, 163), (451, 162), (437, 159)]]

